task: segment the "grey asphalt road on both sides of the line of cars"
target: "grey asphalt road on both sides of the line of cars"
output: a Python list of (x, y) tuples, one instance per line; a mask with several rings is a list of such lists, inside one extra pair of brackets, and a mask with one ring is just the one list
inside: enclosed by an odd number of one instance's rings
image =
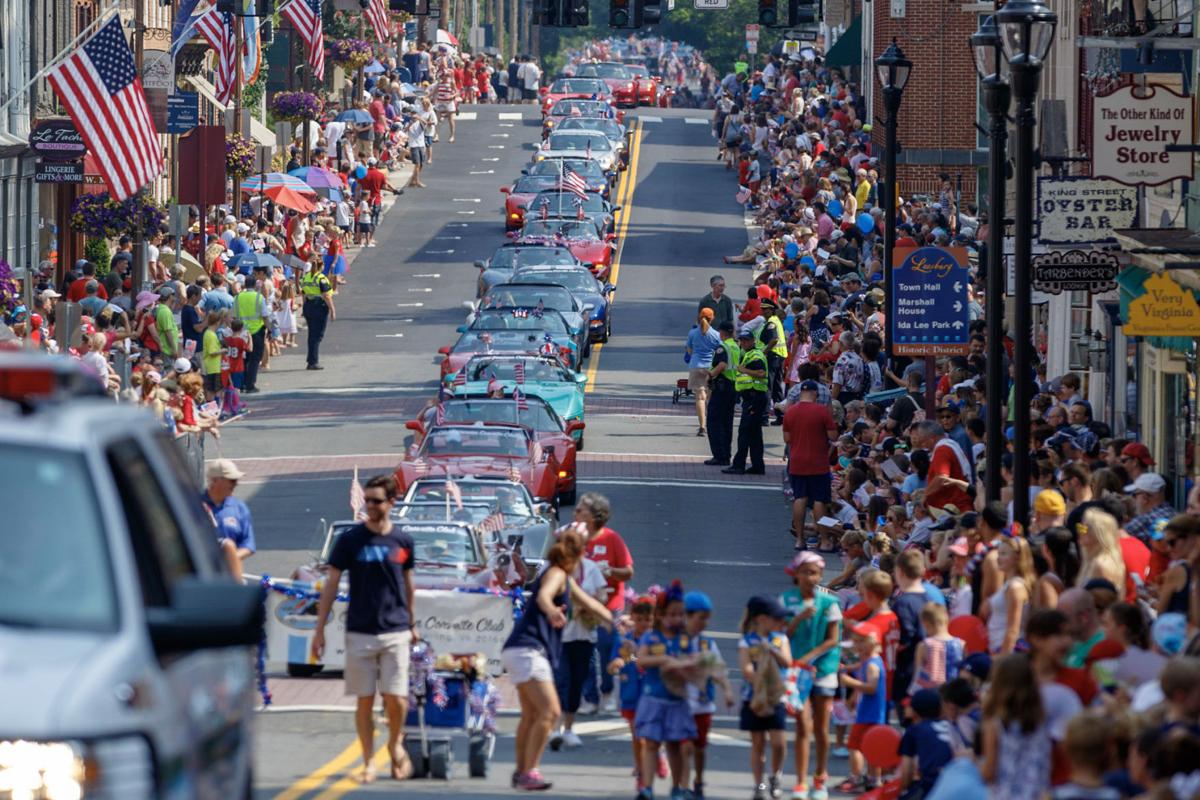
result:
[[(425, 174), (430, 187), (400, 197), (380, 227), (378, 247), (355, 260), (326, 333), (326, 369), (305, 371), (302, 348), (290, 350), (263, 373), (264, 391), (252, 398), (252, 413), (222, 439), (222, 455), (248, 473), (239, 491), (256, 522), (259, 552), (247, 564), (251, 572), (287, 576), (307, 561), (319, 546), (320, 519), (349, 516), (354, 465), (364, 476), (390, 471), (404, 446), (404, 421), (433, 392), (437, 349), (454, 341), (466, 315), (462, 301), (474, 296), (472, 261), (503, 242), (498, 190), (520, 173), (539, 139), (535, 107), (472, 110), (476, 118), (460, 122), (456, 143), (445, 142), (443, 131)], [(779, 488), (778, 429), (767, 433), (766, 477), (722, 475), (701, 464), (709, 455), (707, 441), (695, 435), (688, 401), (672, 403), (672, 389), (685, 377), (684, 338), (709, 276), (726, 275), (736, 295), (749, 283), (748, 267), (720, 261), (740, 252), (746, 234), (733, 181), (714, 158), (707, 115), (641, 109), (640, 116), (640, 144), (626, 179), (634, 185), (622, 212), (628, 228), (616, 276), (613, 337), (594, 347), (586, 363), (590, 380), (580, 488), (612, 500), (612, 527), (634, 553), (637, 588), (679, 578), (714, 597), (712, 630), (736, 664), (734, 631), (745, 599), (787, 585), (781, 567), (792, 549)], [(287, 680), (272, 684), (288, 688)], [(298, 696), (282, 688), (281, 697)], [(302, 688), (306, 697), (340, 696), (336, 676), (310, 679)], [(257, 796), (491, 798), (508, 792), (516, 722), (510, 714), (502, 714), (487, 780), (466, 777), (460, 736), (460, 763), (449, 784), (400, 787), (380, 780), (359, 787), (348, 777), (358, 764), (352, 716), (313, 710), (332, 705), (278, 702), (259, 715)], [(748, 742), (736, 727), (731, 716), (718, 718), (709, 796), (750, 795)], [(584, 718), (577, 730), (583, 750), (547, 754), (544, 771), (556, 781), (550, 795), (631, 796), (622, 720)], [(832, 768), (836, 775), (844, 765)], [(662, 782), (659, 788), (661, 794)]]

